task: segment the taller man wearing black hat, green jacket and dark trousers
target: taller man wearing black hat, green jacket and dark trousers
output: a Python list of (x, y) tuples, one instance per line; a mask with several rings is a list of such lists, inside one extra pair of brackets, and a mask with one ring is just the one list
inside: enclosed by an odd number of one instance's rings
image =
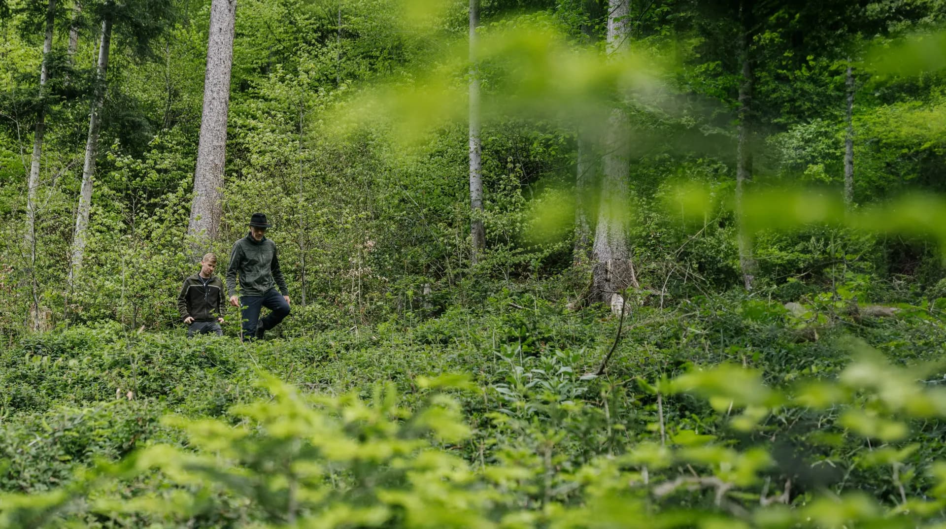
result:
[[(227, 291), (230, 305), (243, 306), (243, 338), (262, 338), (263, 333), (279, 325), (289, 316), (289, 289), (279, 268), (276, 244), (266, 238), (271, 224), (266, 215), (254, 213), (250, 218), (250, 233), (234, 243), (227, 268)], [(239, 274), (240, 297), (236, 297), (236, 275)], [(279, 287), (279, 291), (276, 291)], [(259, 318), (260, 310), (271, 312)]]

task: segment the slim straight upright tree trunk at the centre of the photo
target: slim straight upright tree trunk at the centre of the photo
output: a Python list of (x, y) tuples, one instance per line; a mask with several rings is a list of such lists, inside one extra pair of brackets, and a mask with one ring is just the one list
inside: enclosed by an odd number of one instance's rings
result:
[(470, 160), (470, 236), (473, 239), (470, 260), (476, 264), (486, 246), (482, 225), (482, 165), (480, 143), (480, 79), (476, 66), (476, 27), (480, 23), (480, 0), (470, 0), (470, 84), (469, 84), (469, 160)]

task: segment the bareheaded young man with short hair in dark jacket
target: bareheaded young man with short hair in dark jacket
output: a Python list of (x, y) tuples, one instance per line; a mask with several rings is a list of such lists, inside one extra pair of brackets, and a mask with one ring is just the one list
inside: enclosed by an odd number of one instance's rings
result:
[(217, 256), (207, 254), (201, 259), (201, 272), (184, 279), (178, 294), (178, 310), (187, 325), (187, 338), (194, 334), (223, 335), (223, 281), (214, 276)]

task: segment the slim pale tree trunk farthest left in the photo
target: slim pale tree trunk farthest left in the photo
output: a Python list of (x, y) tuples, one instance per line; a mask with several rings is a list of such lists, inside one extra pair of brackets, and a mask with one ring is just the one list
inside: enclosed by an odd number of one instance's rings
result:
[(45, 132), (46, 79), (49, 77), (49, 54), (53, 49), (53, 26), (56, 22), (56, 0), (46, 6), (46, 34), (43, 41), (43, 62), (40, 65), (40, 110), (36, 115), (36, 132), (33, 135), (33, 156), (29, 165), (29, 180), (26, 183), (26, 248), (29, 251), (30, 287), (33, 296), (33, 326), (39, 322), (39, 285), (36, 281), (36, 188), (40, 185), (40, 162), (43, 158), (43, 135)]

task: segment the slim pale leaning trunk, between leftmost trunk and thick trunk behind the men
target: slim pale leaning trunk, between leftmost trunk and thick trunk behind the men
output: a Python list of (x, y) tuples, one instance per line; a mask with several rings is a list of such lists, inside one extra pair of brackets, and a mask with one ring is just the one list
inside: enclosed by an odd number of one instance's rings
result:
[(109, 68), (109, 48), (112, 45), (112, 17), (106, 15), (102, 21), (102, 41), (98, 46), (96, 89), (89, 113), (89, 136), (85, 142), (85, 164), (82, 166), (82, 187), (79, 191), (79, 209), (76, 212), (76, 232), (72, 240), (72, 257), (69, 262), (69, 285), (82, 267), (89, 227), (89, 212), (92, 210), (93, 176), (98, 154), (98, 129), (101, 124), (102, 103), (105, 100), (105, 76)]

